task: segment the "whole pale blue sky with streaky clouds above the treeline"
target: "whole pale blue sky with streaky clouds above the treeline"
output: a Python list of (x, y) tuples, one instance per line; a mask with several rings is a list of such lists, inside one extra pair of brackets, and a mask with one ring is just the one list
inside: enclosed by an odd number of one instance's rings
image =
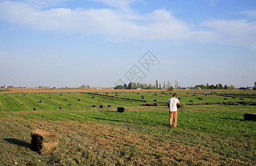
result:
[(0, 0), (0, 86), (256, 81), (256, 1)]

